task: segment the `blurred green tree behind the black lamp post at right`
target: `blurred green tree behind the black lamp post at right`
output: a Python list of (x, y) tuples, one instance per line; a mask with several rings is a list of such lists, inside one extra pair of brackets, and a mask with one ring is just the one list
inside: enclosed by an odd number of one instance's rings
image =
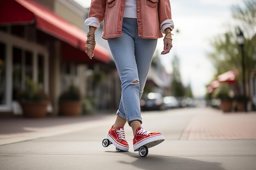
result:
[[(245, 35), (245, 80), (256, 66), (256, 1), (244, 0), (245, 7), (235, 5), (232, 7), (234, 20), (238, 21)], [(237, 28), (230, 28), (225, 34), (218, 35), (211, 42), (214, 48), (209, 58), (216, 67), (217, 75), (229, 70), (238, 70), (237, 81), (241, 84), (241, 52), (237, 43)]]

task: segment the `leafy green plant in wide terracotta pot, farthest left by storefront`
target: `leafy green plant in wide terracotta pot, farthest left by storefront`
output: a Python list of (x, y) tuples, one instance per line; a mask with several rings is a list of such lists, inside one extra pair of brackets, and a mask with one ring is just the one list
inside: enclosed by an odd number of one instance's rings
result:
[(29, 77), (25, 79), (25, 89), (18, 92), (18, 101), (24, 117), (45, 117), (48, 97), (42, 85), (34, 82)]

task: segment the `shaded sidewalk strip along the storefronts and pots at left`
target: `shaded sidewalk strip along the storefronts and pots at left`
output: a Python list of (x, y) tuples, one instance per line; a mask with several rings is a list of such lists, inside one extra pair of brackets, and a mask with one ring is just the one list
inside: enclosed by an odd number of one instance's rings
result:
[(100, 114), (39, 119), (20, 116), (2, 117), (0, 119), (0, 145), (84, 130), (92, 125), (108, 122), (109, 119), (113, 119), (113, 116), (113, 114)]

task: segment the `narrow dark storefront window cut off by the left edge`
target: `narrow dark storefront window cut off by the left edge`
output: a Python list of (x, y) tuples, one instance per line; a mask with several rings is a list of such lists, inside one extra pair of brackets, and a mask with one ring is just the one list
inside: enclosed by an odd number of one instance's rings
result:
[(0, 43), (0, 104), (6, 102), (6, 46)]

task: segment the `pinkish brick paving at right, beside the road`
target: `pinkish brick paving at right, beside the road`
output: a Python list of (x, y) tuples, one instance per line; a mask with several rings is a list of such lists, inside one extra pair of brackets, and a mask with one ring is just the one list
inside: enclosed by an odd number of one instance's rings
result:
[(184, 129), (180, 140), (256, 139), (256, 112), (223, 113), (206, 108)]

